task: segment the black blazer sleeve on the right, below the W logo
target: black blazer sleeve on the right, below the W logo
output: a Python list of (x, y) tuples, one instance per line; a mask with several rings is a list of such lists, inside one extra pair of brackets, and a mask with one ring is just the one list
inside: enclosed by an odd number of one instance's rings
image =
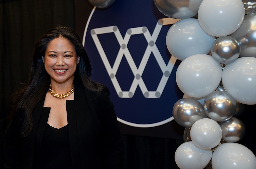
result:
[(124, 143), (116, 118), (114, 104), (108, 93), (101, 93), (98, 103), (98, 117), (100, 120), (100, 142), (102, 144), (103, 168), (122, 168)]

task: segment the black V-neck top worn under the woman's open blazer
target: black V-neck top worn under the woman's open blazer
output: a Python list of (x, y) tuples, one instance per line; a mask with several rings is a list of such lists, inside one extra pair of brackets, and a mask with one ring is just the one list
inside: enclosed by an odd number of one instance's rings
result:
[[(43, 108), (49, 111), (49, 108)], [(68, 125), (56, 129), (49, 124), (46, 125), (44, 136), (41, 142), (38, 157), (38, 167), (40, 169), (71, 169), (72, 160), (70, 152), (70, 142), (68, 135)]]

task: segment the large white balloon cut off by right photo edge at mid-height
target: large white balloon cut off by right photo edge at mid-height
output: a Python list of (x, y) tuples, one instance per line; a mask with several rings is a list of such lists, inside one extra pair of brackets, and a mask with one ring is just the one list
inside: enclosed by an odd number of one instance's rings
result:
[(256, 58), (241, 57), (226, 65), (222, 84), (237, 102), (256, 104)]

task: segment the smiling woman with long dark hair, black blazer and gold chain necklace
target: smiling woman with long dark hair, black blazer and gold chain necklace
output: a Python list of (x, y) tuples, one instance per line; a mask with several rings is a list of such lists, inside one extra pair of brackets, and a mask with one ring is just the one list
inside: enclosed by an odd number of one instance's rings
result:
[(36, 43), (30, 79), (13, 97), (4, 133), (5, 168), (120, 169), (114, 106), (91, 72), (71, 29), (53, 28)]

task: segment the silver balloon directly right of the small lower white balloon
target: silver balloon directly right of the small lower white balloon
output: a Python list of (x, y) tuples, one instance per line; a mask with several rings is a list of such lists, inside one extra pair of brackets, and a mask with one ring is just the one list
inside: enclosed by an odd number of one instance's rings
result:
[(236, 117), (220, 122), (220, 127), (222, 130), (222, 139), (227, 142), (237, 142), (245, 134), (244, 123)]

